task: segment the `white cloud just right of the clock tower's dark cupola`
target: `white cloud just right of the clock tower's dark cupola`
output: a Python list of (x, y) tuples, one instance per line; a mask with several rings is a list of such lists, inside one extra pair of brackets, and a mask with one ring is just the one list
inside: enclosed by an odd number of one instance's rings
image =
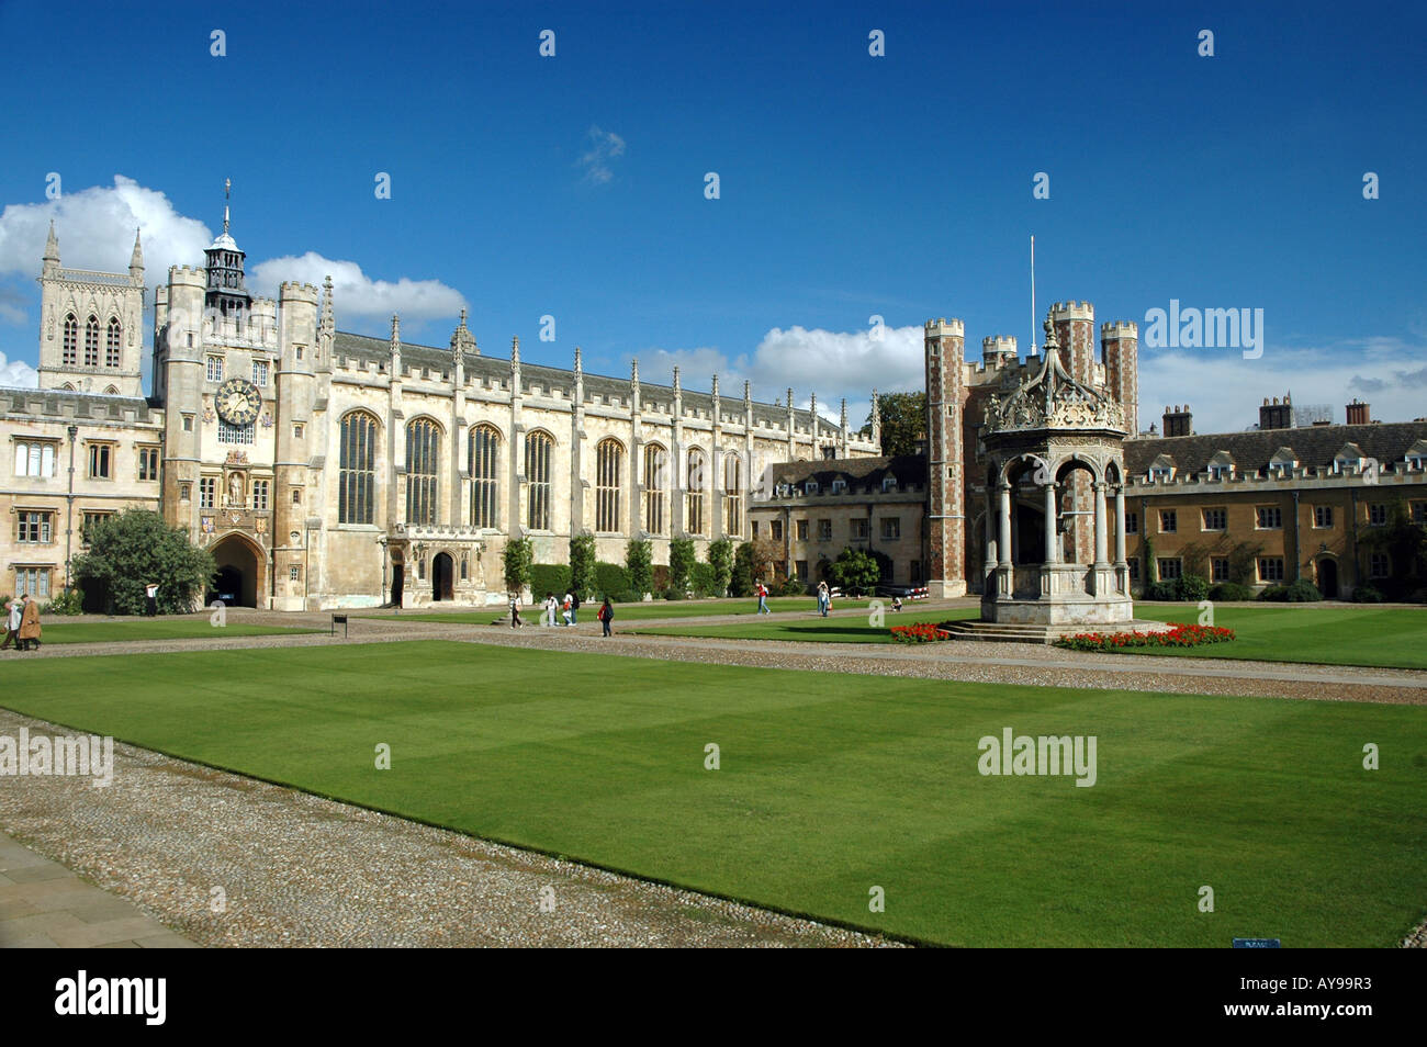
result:
[(457, 314), (467, 304), (459, 291), (440, 280), (372, 280), (357, 262), (324, 258), (317, 251), (268, 258), (253, 265), (248, 275), (248, 285), (254, 291), (274, 298), (283, 281), (298, 280), (321, 287), (323, 280), (331, 275), (332, 311), (338, 327), (348, 328), (348, 318), (387, 320), (392, 312), (418, 322), (440, 317), (455, 322)]

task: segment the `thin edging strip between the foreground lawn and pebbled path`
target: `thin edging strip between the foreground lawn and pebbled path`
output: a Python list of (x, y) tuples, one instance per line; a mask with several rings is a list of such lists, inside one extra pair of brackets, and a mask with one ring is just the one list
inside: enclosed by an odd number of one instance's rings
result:
[[(46, 720), (46, 719), (40, 719), (39, 716), (31, 716), (30, 713), (21, 712), (19, 709), (11, 709), (9, 705), (4, 705), (3, 702), (0, 702), (0, 709), (4, 709), (9, 713), (14, 713), (16, 716), (23, 716), (23, 717), (26, 717), (29, 720), (34, 720), (36, 723), (44, 723), (44, 725), (49, 725), (49, 726), (53, 726), (53, 727), (64, 727), (66, 730), (76, 730), (76, 732), (87, 733), (87, 735), (93, 733), (91, 730), (88, 730), (88, 729), (86, 729), (86, 727), (83, 727), (80, 725), (76, 725), (76, 723), (61, 723), (59, 720)], [(639, 872), (635, 872), (632, 869), (624, 869), (621, 866), (608, 864), (608, 863), (604, 863), (604, 862), (595, 862), (595, 860), (591, 860), (591, 859), (586, 859), (586, 857), (581, 857), (579, 854), (565, 854), (562, 852), (549, 850), (547, 847), (537, 847), (537, 846), (532, 846), (532, 844), (528, 844), (528, 843), (517, 843), (515, 840), (508, 840), (508, 839), (504, 839), (501, 836), (485, 836), (482, 833), (474, 833), (474, 832), (471, 832), (468, 829), (458, 829), (455, 826), (448, 826), (448, 824), (444, 824), (441, 822), (434, 822), (431, 819), (420, 817), (420, 816), (415, 816), (415, 814), (404, 814), (404, 813), (401, 813), (398, 810), (391, 810), (388, 807), (382, 807), (382, 806), (378, 806), (378, 805), (374, 805), (374, 803), (362, 803), (360, 800), (351, 800), (351, 799), (348, 799), (345, 796), (338, 796), (335, 793), (327, 793), (327, 792), (323, 792), (323, 790), (318, 790), (318, 789), (307, 789), (305, 786), (297, 785), (294, 782), (284, 782), (283, 779), (267, 777), (264, 775), (253, 775), (253, 773), (250, 773), (247, 770), (240, 770), (237, 767), (230, 767), (230, 766), (223, 765), (223, 763), (210, 763), (208, 760), (198, 760), (198, 759), (194, 759), (191, 756), (183, 756), (180, 753), (171, 753), (167, 749), (157, 749), (157, 747), (147, 746), (147, 745), (138, 745), (137, 742), (131, 742), (127, 737), (120, 737), (118, 735), (114, 735), (113, 737), (114, 737), (114, 742), (118, 742), (121, 745), (127, 745), (131, 749), (138, 749), (140, 752), (146, 752), (146, 753), (157, 753), (157, 755), (164, 756), (164, 757), (167, 757), (170, 760), (178, 760), (180, 763), (190, 763), (190, 765), (193, 765), (195, 767), (207, 767), (208, 770), (218, 770), (218, 772), (223, 772), (224, 775), (234, 775), (237, 777), (243, 777), (243, 779), (247, 779), (250, 782), (263, 782), (265, 785), (277, 786), (280, 789), (291, 789), (294, 793), (303, 793), (304, 796), (315, 796), (320, 800), (331, 800), (332, 803), (341, 803), (342, 806), (355, 807), (357, 810), (370, 810), (374, 814), (384, 814), (387, 817), (394, 817), (394, 819), (398, 819), (401, 822), (410, 822), (412, 824), (425, 826), (428, 829), (440, 829), (441, 832), (445, 832), (445, 833), (455, 833), (457, 836), (465, 836), (465, 837), (468, 837), (471, 840), (481, 840), (482, 843), (494, 843), (494, 844), (497, 844), (499, 847), (509, 847), (511, 850), (519, 850), (519, 852), (524, 852), (527, 854), (539, 854), (541, 857), (554, 859), (555, 862), (569, 862), (571, 864), (577, 864), (577, 866), (581, 866), (584, 869), (595, 869), (595, 870), (602, 872), (602, 873), (614, 873), (615, 876), (624, 876), (626, 879), (638, 880), (641, 883), (651, 883), (651, 884), (655, 884), (655, 886), (659, 886), (659, 887), (669, 887), (672, 890), (682, 890), (682, 892), (688, 892), (689, 894), (699, 894), (699, 896), (708, 897), (708, 899), (718, 899), (719, 902), (732, 902), (733, 904), (745, 906), (748, 909), (759, 909), (759, 910), (762, 910), (765, 913), (776, 913), (778, 916), (786, 916), (786, 917), (791, 917), (793, 920), (808, 920), (811, 923), (822, 924), (823, 927), (836, 927), (839, 930), (850, 930), (850, 931), (856, 931), (858, 934), (868, 934), (870, 937), (880, 937), (880, 939), (885, 939), (888, 941), (898, 941), (898, 943), (906, 944), (906, 946), (916, 946), (918, 949), (963, 949), (965, 947), (965, 946), (959, 946), (959, 944), (955, 944), (955, 943), (935, 941), (932, 939), (922, 939), (922, 937), (918, 937), (915, 934), (902, 934), (902, 933), (898, 933), (898, 931), (885, 930), (882, 927), (873, 927), (870, 924), (859, 924), (859, 923), (852, 923), (850, 920), (841, 920), (841, 919), (831, 917), (831, 916), (819, 916), (816, 913), (802, 911), (802, 910), (796, 910), (796, 909), (788, 909), (785, 906), (769, 904), (766, 902), (758, 902), (756, 899), (742, 897), (739, 894), (731, 894), (731, 893), (718, 892), (718, 890), (705, 890), (702, 887), (692, 887), (692, 886), (689, 886), (686, 883), (679, 883), (678, 880), (668, 880), (668, 879), (664, 879), (664, 877), (659, 877), (659, 876), (649, 876), (646, 873), (639, 873)], [(1423, 916), (1427, 917), (1427, 910), (1424, 910)], [(1418, 923), (1420, 923), (1420, 920), (1418, 920)], [(1413, 926), (1416, 927), (1417, 924), (1414, 923)]]

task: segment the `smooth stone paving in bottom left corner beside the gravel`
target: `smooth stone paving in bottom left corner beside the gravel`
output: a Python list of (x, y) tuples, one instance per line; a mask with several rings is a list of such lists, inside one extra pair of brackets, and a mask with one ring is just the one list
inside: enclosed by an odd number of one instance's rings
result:
[(133, 902), (0, 833), (0, 949), (193, 949)]

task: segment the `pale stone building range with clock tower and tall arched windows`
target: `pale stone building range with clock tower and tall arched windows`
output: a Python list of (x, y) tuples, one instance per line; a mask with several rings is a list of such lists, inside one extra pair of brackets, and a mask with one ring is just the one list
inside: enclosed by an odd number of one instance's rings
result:
[[(769, 404), (748, 384), (723, 395), (716, 375), (708, 392), (685, 389), (678, 369), (645, 382), (638, 361), (628, 378), (589, 375), (578, 348), (571, 369), (525, 364), (518, 339), (508, 359), (488, 357), (464, 312), (442, 348), (405, 344), (397, 317), (387, 338), (340, 332), (330, 280), (283, 284), (275, 301), (247, 291), (227, 214), (205, 255), (156, 288), (144, 399), (138, 241), (127, 277), (80, 272), (60, 267), (51, 230), (43, 391), (0, 392), (17, 585), (57, 592), (84, 514), (137, 505), (208, 546), (215, 595), (235, 603), (504, 602), (512, 536), (531, 539), (538, 563), (567, 562), (584, 532), (602, 561), (648, 538), (666, 563), (684, 533), (702, 556), (751, 536), (772, 466), (878, 452), (816, 401), (793, 408), (792, 389)], [(91, 446), (110, 448), (94, 452), (93, 478)]]

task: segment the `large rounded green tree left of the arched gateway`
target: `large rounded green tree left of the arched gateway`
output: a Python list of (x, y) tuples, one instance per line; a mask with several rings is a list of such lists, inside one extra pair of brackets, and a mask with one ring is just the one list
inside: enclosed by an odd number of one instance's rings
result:
[(144, 586), (158, 585), (158, 611), (186, 615), (203, 602), (215, 571), (213, 553), (188, 541), (148, 509), (126, 509), (88, 529), (88, 552), (76, 556), (71, 576), (103, 593), (106, 611), (144, 613)]

